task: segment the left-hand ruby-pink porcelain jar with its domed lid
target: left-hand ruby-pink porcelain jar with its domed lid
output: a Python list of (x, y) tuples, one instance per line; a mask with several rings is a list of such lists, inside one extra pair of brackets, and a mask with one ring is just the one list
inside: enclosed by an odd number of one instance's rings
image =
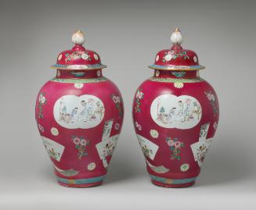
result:
[(85, 49), (84, 34), (57, 57), (56, 77), (39, 91), (35, 118), (58, 183), (93, 187), (103, 183), (121, 132), (120, 91), (103, 77), (99, 54)]

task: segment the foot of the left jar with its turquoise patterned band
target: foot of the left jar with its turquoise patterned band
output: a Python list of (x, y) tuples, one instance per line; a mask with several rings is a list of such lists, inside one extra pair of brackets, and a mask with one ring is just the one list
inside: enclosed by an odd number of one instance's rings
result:
[(58, 183), (63, 187), (77, 187), (77, 188), (85, 188), (85, 187), (96, 187), (103, 183), (104, 176), (96, 176), (92, 178), (86, 179), (64, 179), (57, 176)]

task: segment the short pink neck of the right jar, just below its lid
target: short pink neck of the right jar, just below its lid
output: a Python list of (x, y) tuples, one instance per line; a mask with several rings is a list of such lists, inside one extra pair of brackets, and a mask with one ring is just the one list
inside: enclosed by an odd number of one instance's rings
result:
[(200, 77), (198, 70), (180, 71), (180, 70), (157, 70), (155, 69), (153, 77), (192, 79)]

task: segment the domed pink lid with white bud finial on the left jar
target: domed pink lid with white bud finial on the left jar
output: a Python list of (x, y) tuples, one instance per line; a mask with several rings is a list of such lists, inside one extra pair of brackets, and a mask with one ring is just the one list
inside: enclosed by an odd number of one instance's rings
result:
[(81, 30), (77, 30), (72, 36), (74, 47), (70, 50), (59, 53), (57, 63), (52, 65), (53, 69), (103, 69), (99, 54), (85, 49), (82, 45), (85, 36)]

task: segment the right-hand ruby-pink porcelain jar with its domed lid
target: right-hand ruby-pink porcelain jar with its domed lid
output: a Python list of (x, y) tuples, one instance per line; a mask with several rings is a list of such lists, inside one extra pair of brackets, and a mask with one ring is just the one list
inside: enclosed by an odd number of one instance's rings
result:
[(152, 183), (160, 187), (189, 187), (218, 126), (218, 98), (200, 77), (195, 52), (182, 48), (182, 33), (171, 34), (171, 48), (157, 53), (153, 77), (135, 92), (135, 133)]

